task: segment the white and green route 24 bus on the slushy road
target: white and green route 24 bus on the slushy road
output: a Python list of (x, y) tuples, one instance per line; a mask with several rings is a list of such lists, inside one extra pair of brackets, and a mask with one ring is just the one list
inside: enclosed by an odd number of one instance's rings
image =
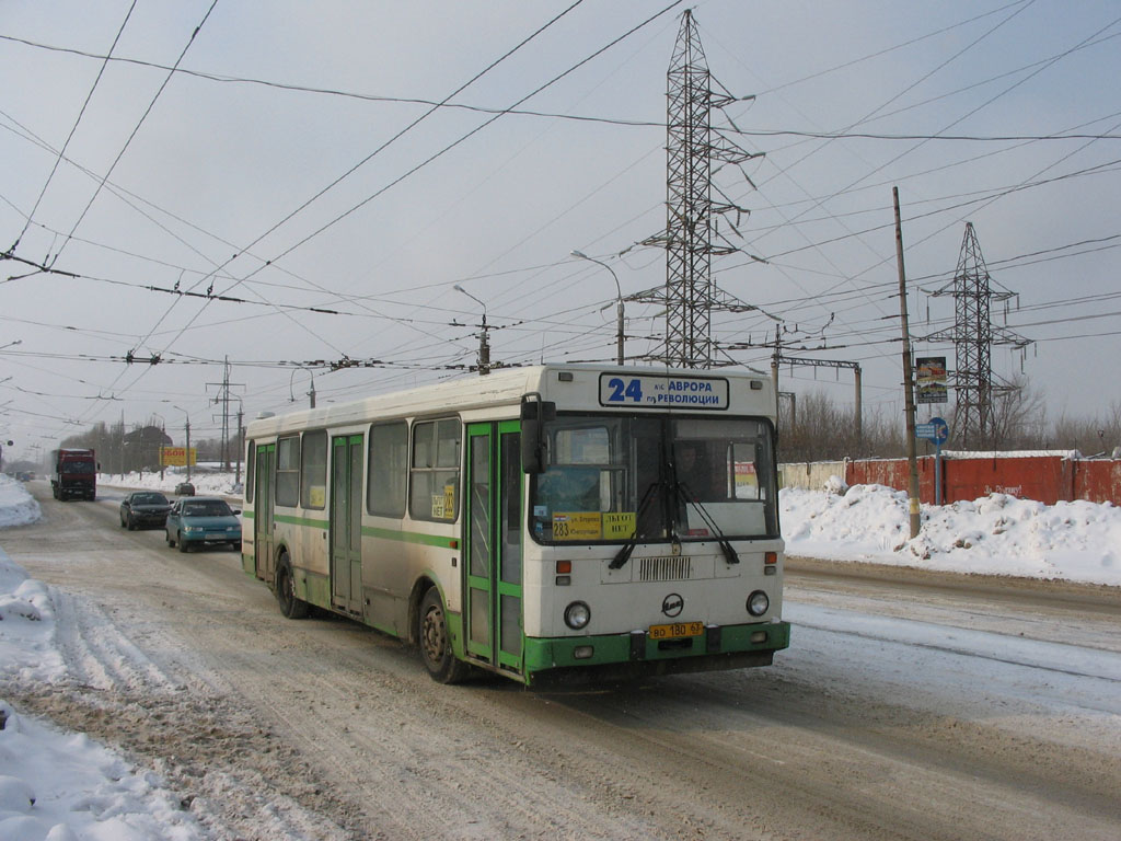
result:
[(763, 666), (781, 619), (775, 391), (752, 373), (543, 364), (245, 431), (242, 564), (442, 683)]

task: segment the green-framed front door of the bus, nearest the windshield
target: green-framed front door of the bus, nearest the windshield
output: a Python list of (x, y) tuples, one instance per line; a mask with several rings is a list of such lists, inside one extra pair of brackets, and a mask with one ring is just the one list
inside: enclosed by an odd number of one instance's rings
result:
[(467, 654), (520, 673), (521, 447), (516, 420), (467, 426), (464, 632)]

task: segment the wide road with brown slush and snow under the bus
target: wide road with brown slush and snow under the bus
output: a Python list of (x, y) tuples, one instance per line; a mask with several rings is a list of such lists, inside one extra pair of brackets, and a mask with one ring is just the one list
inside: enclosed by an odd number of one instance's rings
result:
[(58, 503), (2, 535), (59, 592), (28, 712), (164, 773), (214, 838), (1117, 839), (1121, 592), (795, 563), (766, 669), (441, 686), (291, 622), (229, 552)]

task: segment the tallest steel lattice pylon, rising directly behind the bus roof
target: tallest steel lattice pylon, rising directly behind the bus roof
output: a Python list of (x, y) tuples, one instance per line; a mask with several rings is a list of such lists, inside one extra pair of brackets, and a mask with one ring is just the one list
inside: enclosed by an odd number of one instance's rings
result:
[[(643, 241), (666, 249), (666, 285), (633, 299), (665, 307), (665, 350), (656, 359), (680, 368), (712, 368), (713, 311), (752, 308), (717, 289), (712, 280), (712, 258), (740, 250), (722, 233), (720, 223), (739, 235), (731, 218), (738, 223), (748, 213), (714, 186), (713, 176), (759, 154), (741, 149), (712, 124), (713, 110), (739, 98), (713, 90), (688, 10), (682, 16), (667, 81), (666, 229)], [(743, 177), (750, 184), (745, 173)]]

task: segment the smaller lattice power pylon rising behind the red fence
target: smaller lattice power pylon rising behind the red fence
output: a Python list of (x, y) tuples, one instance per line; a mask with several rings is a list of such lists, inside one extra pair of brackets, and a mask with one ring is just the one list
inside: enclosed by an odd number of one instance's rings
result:
[(994, 383), (992, 345), (1025, 348), (1030, 342), (1010, 330), (992, 324), (992, 302), (1008, 301), (1015, 293), (994, 292), (989, 269), (981, 253), (973, 223), (965, 223), (965, 237), (952, 284), (933, 293), (954, 296), (954, 329), (928, 336), (933, 341), (954, 342), (955, 369), (952, 382), (956, 394), (953, 434), (963, 449), (986, 447), (993, 443), (995, 405), (993, 395), (1009, 386)]

